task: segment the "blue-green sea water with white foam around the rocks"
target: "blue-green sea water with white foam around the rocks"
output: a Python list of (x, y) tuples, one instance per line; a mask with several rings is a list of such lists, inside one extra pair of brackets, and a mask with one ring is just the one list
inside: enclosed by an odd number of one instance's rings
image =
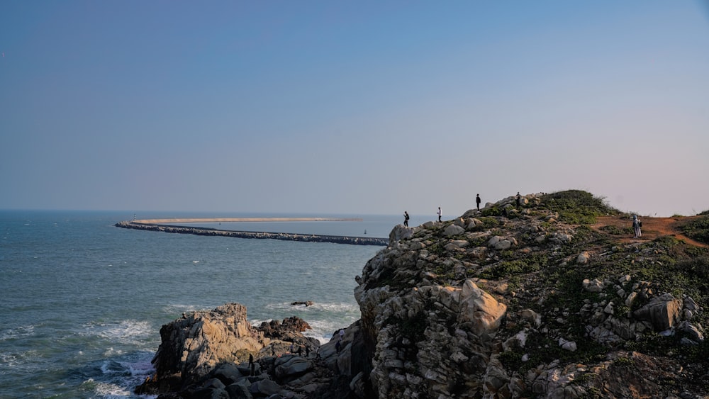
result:
[[(138, 218), (210, 216), (283, 215)], [(401, 223), (399, 216), (311, 216), (363, 220), (229, 223), (228, 230), (387, 237)], [(306, 335), (329, 339), (359, 318), (354, 276), (382, 248), (113, 226), (131, 218), (0, 210), (0, 398), (133, 397), (153, 372), (160, 327), (228, 302), (246, 305), (254, 324), (296, 315), (313, 327)], [(315, 304), (291, 306), (295, 300)]]

